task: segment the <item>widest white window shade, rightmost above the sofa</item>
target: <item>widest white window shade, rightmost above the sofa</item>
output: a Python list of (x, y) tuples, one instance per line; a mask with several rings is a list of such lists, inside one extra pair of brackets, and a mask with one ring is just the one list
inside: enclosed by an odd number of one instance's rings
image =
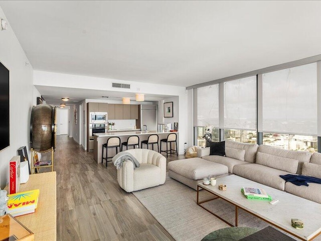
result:
[(317, 135), (316, 63), (263, 74), (260, 132)]

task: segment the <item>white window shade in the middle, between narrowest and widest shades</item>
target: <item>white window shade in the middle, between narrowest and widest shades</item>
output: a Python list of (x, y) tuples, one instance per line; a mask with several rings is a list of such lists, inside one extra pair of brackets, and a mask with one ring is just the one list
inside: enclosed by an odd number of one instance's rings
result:
[(256, 130), (256, 76), (224, 83), (223, 128)]

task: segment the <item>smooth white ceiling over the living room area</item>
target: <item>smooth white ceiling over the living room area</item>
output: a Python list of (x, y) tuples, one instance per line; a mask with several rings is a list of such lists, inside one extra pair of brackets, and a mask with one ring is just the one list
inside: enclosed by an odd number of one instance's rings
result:
[(0, 6), (36, 70), (190, 86), (321, 54), (320, 1)]

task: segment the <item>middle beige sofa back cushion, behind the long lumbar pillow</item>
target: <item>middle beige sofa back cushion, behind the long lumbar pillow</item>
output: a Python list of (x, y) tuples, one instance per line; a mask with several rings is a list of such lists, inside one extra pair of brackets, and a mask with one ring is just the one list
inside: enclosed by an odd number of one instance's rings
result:
[(298, 166), (296, 174), (301, 174), (302, 172), (302, 165), (304, 162), (309, 162), (311, 153), (309, 152), (301, 152), (301, 151), (291, 151), (291, 150), (284, 150), (284, 149), (278, 149), (275, 147), (269, 147), (266, 145), (260, 145), (257, 149), (258, 152), (267, 153), (270, 155), (278, 156), (278, 157), (285, 157), (290, 158), (294, 160), (298, 160)]

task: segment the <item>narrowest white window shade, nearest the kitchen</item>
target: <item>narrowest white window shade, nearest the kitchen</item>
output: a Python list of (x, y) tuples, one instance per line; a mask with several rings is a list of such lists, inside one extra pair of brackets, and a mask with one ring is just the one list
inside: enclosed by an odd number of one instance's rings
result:
[(219, 127), (219, 84), (197, 89), (197, 126)]

